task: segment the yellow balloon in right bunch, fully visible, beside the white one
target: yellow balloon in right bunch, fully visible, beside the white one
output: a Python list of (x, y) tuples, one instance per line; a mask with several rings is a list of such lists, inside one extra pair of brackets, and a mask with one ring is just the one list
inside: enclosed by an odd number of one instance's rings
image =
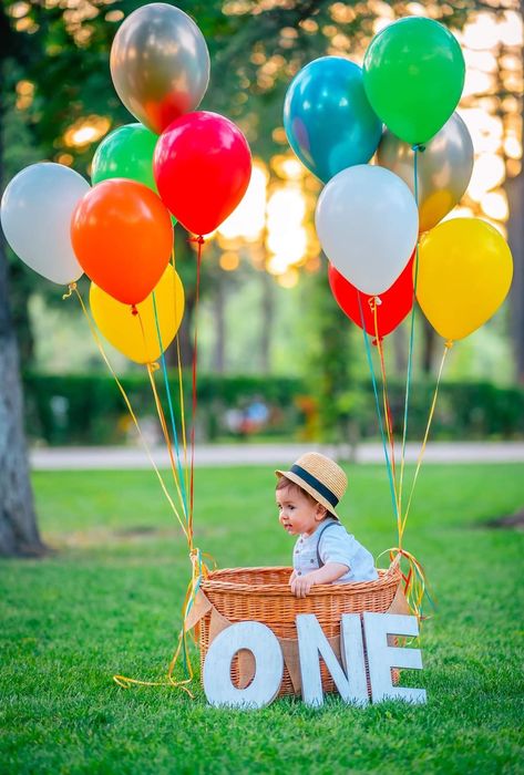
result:
[(496, 312), (512, 276), (510, 248), (494, 226), (454, 218), (421, 240), (417, 299), (441, 337), (463, 339)]

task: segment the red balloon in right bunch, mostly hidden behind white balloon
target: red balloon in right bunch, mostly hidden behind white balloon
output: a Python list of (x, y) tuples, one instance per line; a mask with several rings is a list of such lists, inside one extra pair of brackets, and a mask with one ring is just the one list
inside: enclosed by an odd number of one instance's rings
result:
[[(391, 288), (379, 296), (381, 303), (377, 306), (377, 328), (380, 339), (391, 333), (413, 307), (413, 260), (414, 252)], [(328, 277), (331, 292), (342, 312), (362, 328), (361, 307), (366, 332), (374, 337), (374, 312), (369, 303), (374, 297), (359, 291), (332, 264), (329, 265)]]

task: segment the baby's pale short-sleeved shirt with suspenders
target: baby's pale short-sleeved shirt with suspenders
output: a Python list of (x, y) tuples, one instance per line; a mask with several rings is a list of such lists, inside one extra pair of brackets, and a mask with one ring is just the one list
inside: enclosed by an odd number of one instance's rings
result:
[(332, 583), (374, 581), (379, 578), (371, 552), (335, 517), (322, 519), (310, 536), (301, 535), (292, 554), (292, 567), (298, 576), (310, 574), (328, 562), (340, 562), (349, 568), (347, 574)]

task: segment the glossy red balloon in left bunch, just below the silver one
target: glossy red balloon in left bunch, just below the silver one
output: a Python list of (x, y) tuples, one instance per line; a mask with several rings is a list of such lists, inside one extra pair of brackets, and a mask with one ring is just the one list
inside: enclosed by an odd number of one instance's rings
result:
[(239, 204), (251, 176), (251, 154), (232, 121), (197, 111), (161, 134), (153, 169), (165, 206), (188, 231), (202, 236)]

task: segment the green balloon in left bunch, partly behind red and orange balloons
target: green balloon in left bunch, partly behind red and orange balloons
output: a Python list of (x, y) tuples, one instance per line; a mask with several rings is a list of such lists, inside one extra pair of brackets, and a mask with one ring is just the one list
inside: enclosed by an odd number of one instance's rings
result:
[(111, 177), (137, 180), (158, 193), (153, 176), (153, 154), (158, 137), (142, 124), (126, 124), (111, 132), (93, 156), (93, 185)]

